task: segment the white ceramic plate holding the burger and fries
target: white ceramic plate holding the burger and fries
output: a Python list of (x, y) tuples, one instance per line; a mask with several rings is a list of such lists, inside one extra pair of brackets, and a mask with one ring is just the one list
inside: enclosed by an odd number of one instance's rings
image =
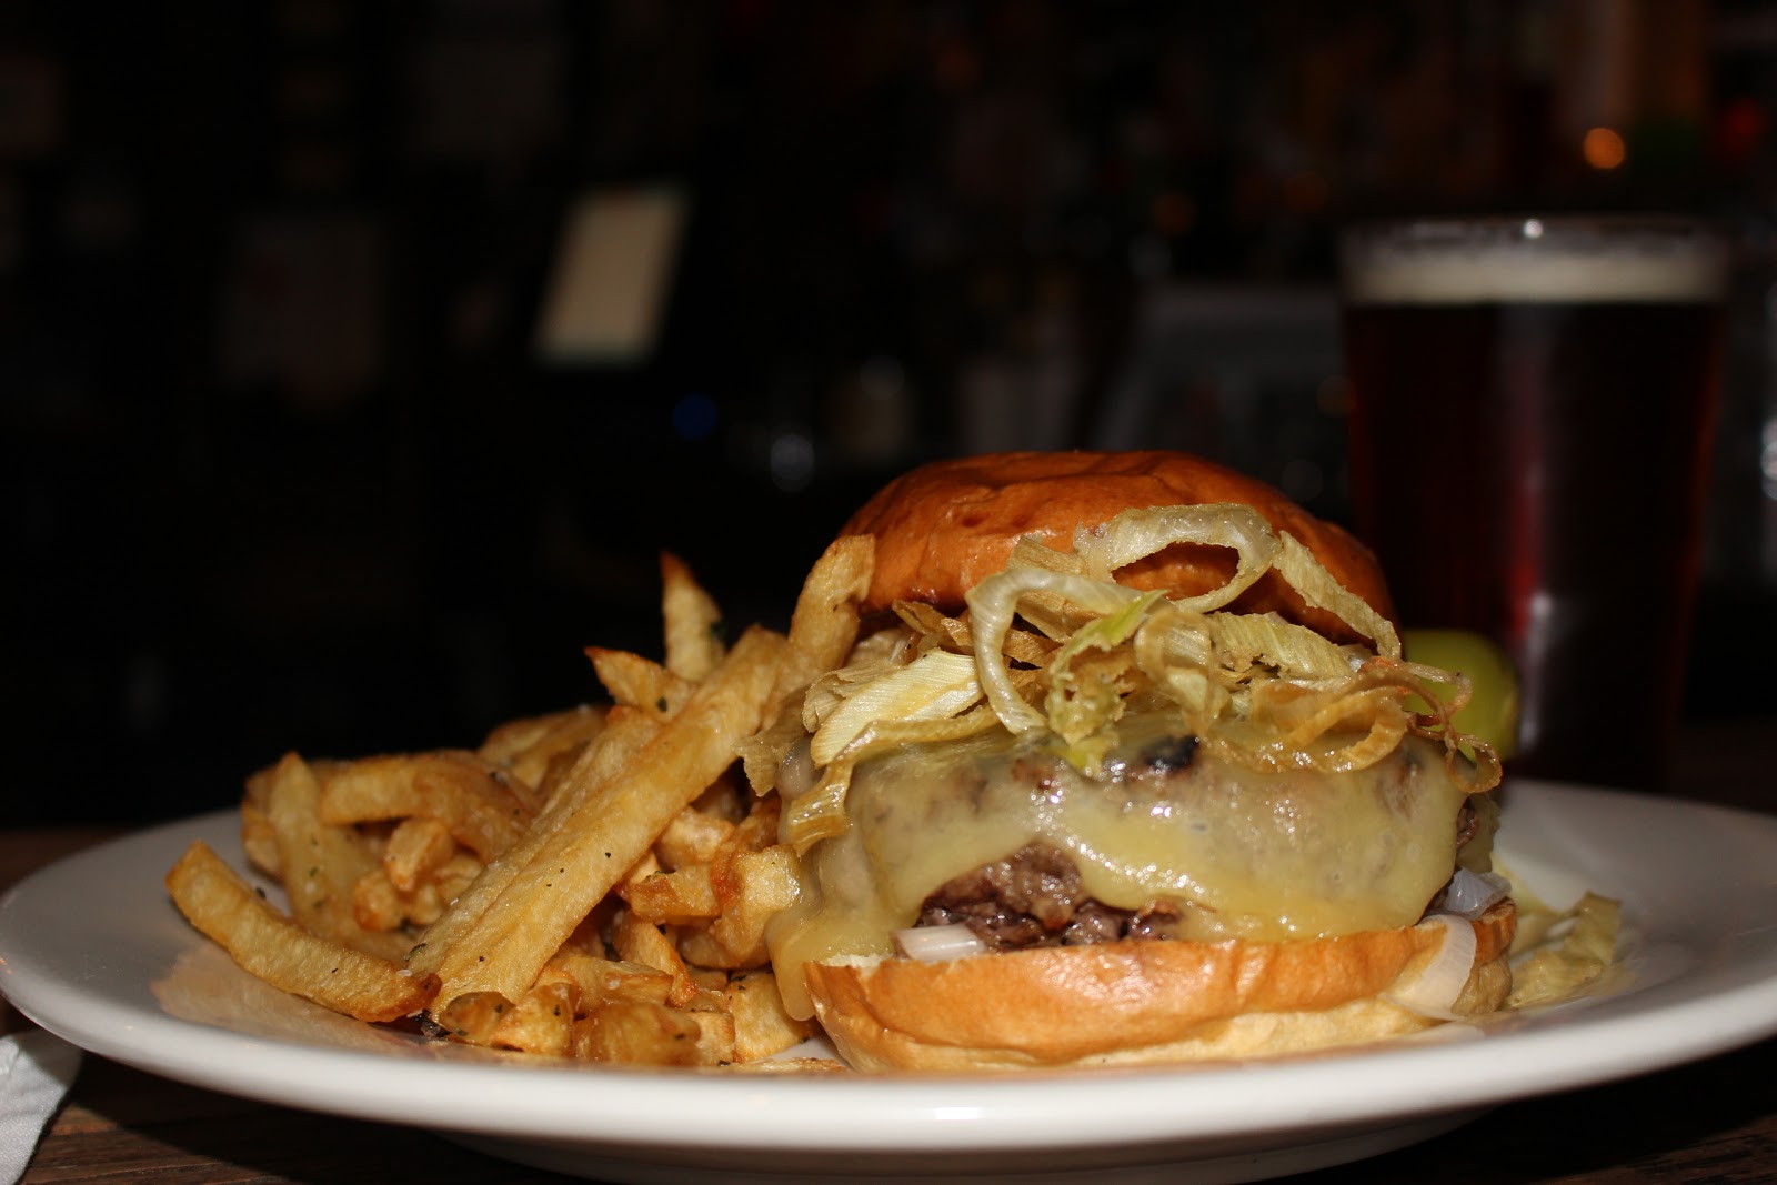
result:
[(1011, 1077), (556, 1068), (332, 1016), (240, 972), (162, 876), (233, 812), (144, 831), (0, 901), (0, 990), (75, 1045), (235, 1094), (432, 1128), (615, 1181), (1015, 1176), (1246, 1181), (1354, 1160), (1496, 1103), (1777, 1032), (1777, 817), (1518, 782), (1502, 855), (1541, 895), (1624, 901), (1615, 995), (1294, 1061)]

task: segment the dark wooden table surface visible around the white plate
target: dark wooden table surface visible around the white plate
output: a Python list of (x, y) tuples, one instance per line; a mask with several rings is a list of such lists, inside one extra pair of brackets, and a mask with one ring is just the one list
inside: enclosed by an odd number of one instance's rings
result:
[[(1692, 727), (1681, 785), (1777, 812), (1766, 750), (1777, 721)], [(103, 830), (0, 831), (0, 888)], [(27, 1025), (5, 1009), (7, 1029)], [(562, 1181), (425, 1132), (357, 1123), (178, 1086), (87, 1055), (21, 1178), (105, 1181), (428, 1185)], [(1777, 1181), (1777, 1039), (1610, 1086), (1500, 1107), (1397, 1153), (1294, 1178), (1303, 1185), (1724, 1185)]]

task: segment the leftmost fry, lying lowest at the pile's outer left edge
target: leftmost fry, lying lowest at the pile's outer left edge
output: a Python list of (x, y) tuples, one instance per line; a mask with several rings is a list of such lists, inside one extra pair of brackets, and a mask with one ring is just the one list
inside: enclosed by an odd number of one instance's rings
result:
[(274, 910), (203, 840), (167, 872), (167, 892), (192, 926), (247, 972), (357, 1020), (423, 1009), (437, 986), (398, 963), (354, 950)]

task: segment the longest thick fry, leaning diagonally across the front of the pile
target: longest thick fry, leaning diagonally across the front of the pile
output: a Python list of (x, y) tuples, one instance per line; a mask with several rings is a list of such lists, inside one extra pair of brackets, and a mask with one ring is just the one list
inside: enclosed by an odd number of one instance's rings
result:
[[(684, 709), (618, 775), (586, 794), (437, 966), (441, 995), (517, 997), (549, 956), (654, 844), (672, 817), (759, 728), (784, 638), (752, 627)], [(426, 942), (430, 945), (430, 933)]]

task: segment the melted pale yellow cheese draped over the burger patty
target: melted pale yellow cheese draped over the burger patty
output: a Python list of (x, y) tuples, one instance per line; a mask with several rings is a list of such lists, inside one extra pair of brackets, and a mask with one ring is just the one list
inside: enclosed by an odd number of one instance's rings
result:
[(1164, 769), (1143, 759), (1164, 728), (1125, 720), (1096, 782), (1000, 730), (862, 764), (849, 830), (810, 849), (800, 901), (769, 927), (785, 1006), (812, 1013), (803, 963), (888, 954), (933, 890), (1029, 842), (1068, 851), (1105, 904), (1173, 901), (1192, 940), (1411, 926), (1450, 879), (1466, 792), (1430, 743), (1343, 775), (1255, 773), (1203, 750)]

